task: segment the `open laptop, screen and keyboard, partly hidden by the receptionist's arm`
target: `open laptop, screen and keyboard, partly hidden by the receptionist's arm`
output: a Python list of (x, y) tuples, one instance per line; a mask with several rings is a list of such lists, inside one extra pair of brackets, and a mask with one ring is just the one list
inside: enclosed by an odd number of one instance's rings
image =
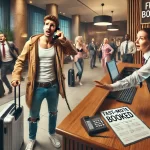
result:
[[(115, 60), (111, 60), (107, 62), (106, 66), (107, 66), (112, 83), (116, 82), (117, 80), (122, 79), (122, 75), (118, 71), (118, 67), (116, 65)], [(131, 87), (131, 88), (120, 90), (120, 91), (110, 92), (108, 97), (116, 99), (117, 101), (120, 101), (123, 103), (132, 104), (136, 90), (137, 90), (136, 87)]]

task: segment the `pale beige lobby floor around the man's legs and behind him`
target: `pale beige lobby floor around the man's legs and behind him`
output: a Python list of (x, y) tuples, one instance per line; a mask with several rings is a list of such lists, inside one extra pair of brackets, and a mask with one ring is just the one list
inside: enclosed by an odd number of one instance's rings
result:
[[(82, 83), (83, 85), (80, 86), (78, 83), (76, 83), (75, 87), (68, 87), (68, 69), (72, 67), (72, 64), (65, 64), (64, 65), (64, 72), (66, 75), (66, 93), (67, 98), (70, 104), (71, 109), (73, 110), (79, 103), (82, 101), (82, 99), (92, 90), (94, 87), (94, 80), (100, 80), (104, 76), (104, 72), (100, 66), (100, 63), (96, 63), (97, 68), (90, 69), (89, 66), (89, 59), (84, 59), (84, 72), (82, 77)], [(76, 67), (75, 72), (77, 72)], [(26, 76), (26, 73), (24, 73)], [(8, 78), (10, 79), (11, 76), (8, 75)], [(24, 81), (25, 82), (25, 81)], [(25, 90), (25, 83), (22, 84), (21, 90)], [(7, 99), (6, 95), (4, 98)], [(12, 94), (13, 97), (13, 94)], [(0, 99), (1, 100), (1, 99)], [(8, 105), (8, 103), (13, 103), (13, 99), (10, 102), (7, 102), (0, 106), (0, 111)], [(28, 142), (28, 108), (25, 103), (25, 96), (21, 96), (21, 105), (24, 107), (24, 145), (22, 146), (21, 150), (25, 149), (25, 146)], [(69, 110), (67, 108), (67, 105), (65, 103), (65, 100), (59, 97), (59, 104), (58, 104), (58, 120), (57, 125), (60, 124), (60, 122), (69, 114)], [(61, 135), (57, 135), (60, 141), (62, 140)], [(59, 148), (61, 150), (61, 148)], [(38, 124), (38, 131), (37, 131), (37, 142), (35, 145), (34, 150), (56, 150), (56, 148), (53, 147), (51, 144), (51, 141), (48, 138), (48, 109), (47, 109), (47, 102), (44, 100), (41, 106), (41, 112), (40, 112), (40, 121)]]

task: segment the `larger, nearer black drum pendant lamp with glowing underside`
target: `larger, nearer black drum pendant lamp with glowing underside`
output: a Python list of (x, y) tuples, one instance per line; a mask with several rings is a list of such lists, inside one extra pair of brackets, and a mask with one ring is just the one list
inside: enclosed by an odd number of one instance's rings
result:
[(102, 15), (94, 17), (94, 19), (93, 19), (94, 25), (97, 25), (97, 26), (112, 25), (112, 17), (111, 16), (107, 16), (107, 15), (103, 15), (104, 3), (102, 3), (101, 6), (102, 6)]

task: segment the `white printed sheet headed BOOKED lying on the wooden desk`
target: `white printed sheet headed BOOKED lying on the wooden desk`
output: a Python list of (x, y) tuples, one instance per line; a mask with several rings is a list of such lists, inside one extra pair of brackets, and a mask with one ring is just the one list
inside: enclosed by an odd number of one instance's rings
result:
[(124, 146), (150, 137), (150, 129), (128, 108), (101, 112)]

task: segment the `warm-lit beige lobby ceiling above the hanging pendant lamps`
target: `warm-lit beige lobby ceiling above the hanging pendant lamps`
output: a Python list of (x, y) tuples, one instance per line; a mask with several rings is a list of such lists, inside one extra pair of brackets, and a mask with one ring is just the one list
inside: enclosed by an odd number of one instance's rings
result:
[[(97, 14), (102, 15), (101, 3), (104, 3), (103, 15), (111, 16), (113, 10), (113, 21), (127, 20), (127, 0), (80, 0), (82, 3), (90, 7)], [(70, 17), (78, 14), (81, 16), (82, 22), (93, 22), (96, 13), (77, 0), (32, 0), (32, 5), (46, 9), (46, 4), (57, 4), (58, 12), (64, 16)]]

